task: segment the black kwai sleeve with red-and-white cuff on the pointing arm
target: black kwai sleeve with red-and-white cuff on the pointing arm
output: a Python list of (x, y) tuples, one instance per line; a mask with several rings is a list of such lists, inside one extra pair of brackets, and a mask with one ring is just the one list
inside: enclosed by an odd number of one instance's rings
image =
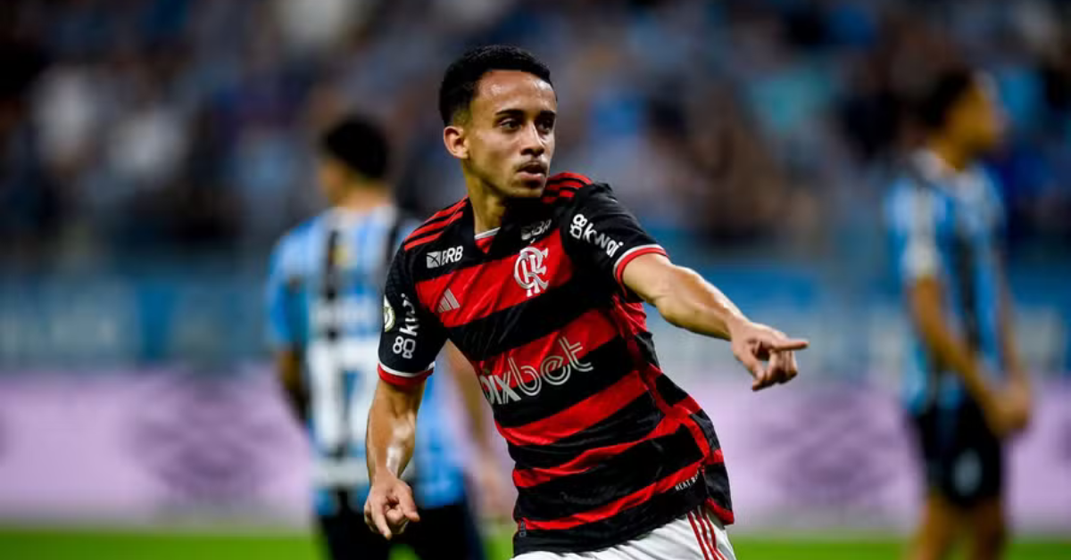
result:
[(619, 285), (625, 266), (636, 257), (666, 254), (604, 184), (584, 188), (562, 228), (567, 251)]

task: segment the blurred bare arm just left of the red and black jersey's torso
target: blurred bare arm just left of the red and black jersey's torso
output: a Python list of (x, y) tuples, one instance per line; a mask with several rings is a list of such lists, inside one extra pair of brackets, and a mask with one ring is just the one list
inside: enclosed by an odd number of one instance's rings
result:
[(472, 369), (472, 365), (453, 344), (447, 344), (443, 354), (462, 394), (472, 441), (477, 448), (478, 456), (472, 461), (472, 474), (476, 478), (474, 482), (480, 497), (479, 511), (483, 515), (494, 518), (506, 516), (510, 511), (507, 483), (496, 459), (494, 440), (487, 421), (487, 407), (484, 405), (479, 378)]

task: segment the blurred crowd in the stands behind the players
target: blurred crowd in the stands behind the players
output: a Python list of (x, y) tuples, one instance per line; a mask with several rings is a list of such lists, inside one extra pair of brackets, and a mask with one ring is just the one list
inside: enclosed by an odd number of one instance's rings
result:
[(874, 229), (935, 71), (992, 73), (1021, 246), (1071, 244), (1071, 4), (960, 0), (20, 0), (0, 5), (0, 256), (261, 255), (321, 200), (311, 139), (371, 113), (417, 212), (464, 193), (442, 70), (521, 45), (559, 96), (555, 169), (652, 229), (817, 252)]

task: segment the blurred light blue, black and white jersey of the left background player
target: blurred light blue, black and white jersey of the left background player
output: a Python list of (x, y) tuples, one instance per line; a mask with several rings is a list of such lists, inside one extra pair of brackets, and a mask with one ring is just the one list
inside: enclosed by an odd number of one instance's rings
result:
[[(365, 426), (378, 381), (382, 285), (401, 241), (418, 225), (393, 207), (366, 213), (329, 210), (287, 232), (275, 246), (267, 285), (268, 333), (275, 348), (303, 355), (316, 509), (330, 514), (337, 489), (360, 511), (367, 494)], [(457, 447), (442, 422), (442, 390), (428, 380), (407, 470), (418, 502), (459, 501)]]

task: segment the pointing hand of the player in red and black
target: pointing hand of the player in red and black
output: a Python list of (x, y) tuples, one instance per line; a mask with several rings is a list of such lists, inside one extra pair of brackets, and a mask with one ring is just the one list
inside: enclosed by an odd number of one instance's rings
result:
[(786, 383), (798, 374), (796, 350), (810, 343), (789, 338), (785, 333), (765, 324), (741, 321), (729, 329), (733, 354), (748, 368), (754, 382), (752, 391), (759, 391), (778, 383)]

